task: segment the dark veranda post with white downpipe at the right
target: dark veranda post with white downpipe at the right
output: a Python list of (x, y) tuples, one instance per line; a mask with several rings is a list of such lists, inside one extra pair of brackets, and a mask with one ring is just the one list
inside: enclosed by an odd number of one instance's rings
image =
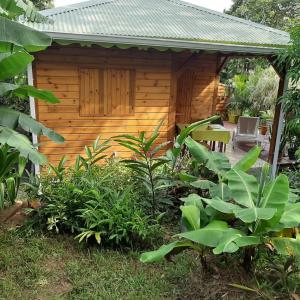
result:
[[(280, 79), (278, 97), (285, 94), (288, 88), (288, 77), (285, 74), (284, 78)], [(284, 129), (284, 112), (281, 104), (276, 105), (276, 111), (274, 116), (273, 128), (272, 128), (272, 139), (270, 143), (269, 162), (272, 164), (271, 177), (275, 178), (277, 173), (277, 164), (280, 150), (280, 142), (282, 132)]]

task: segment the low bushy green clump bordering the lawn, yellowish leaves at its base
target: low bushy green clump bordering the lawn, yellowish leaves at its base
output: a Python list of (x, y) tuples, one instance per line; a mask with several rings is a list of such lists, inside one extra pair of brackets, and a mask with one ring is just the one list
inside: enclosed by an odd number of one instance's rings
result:
[(92, 191), (91, 199), (79, 209), (79, 217), (84, 221), (79, 242), (95, 238), (98, 244), (143, 245), (159, 238), (159, 218), (153, 219), (136, 206), (130, 189), (123, 192), (107, 191), (99, 194)]

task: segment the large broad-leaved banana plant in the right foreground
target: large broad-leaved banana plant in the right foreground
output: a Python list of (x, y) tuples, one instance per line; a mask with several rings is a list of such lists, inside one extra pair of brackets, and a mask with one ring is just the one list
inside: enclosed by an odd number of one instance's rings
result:
[(216, 173), (218, 183), (208, 185), (210, 196), (207, 198), (193, 194), (183, 199), (181, 211), (187, 231), (176, 235), (180, 240), (144, 253), (141, 261), (158, 261), (186, 248), (202, 254), (208, 248), (213, 248), (214, 254), (245, 249), (244, 262), (249, 267), (255, 247), (262, 244), (270, 244), (284, 255), (300, 255), (300, 237), (280, 237), (279, 234), (298, 226), (300, 220), (299, 204), (288, 202), (287, 177), (279, 175), (269, 181), (267, 167), (263, 168), (260, 182), (246, 173), (256, 162), (259, 148), (228, 168), (223, 154), (215, 157), (191, 138), (186, 139), (186, 145), (197, 163)]

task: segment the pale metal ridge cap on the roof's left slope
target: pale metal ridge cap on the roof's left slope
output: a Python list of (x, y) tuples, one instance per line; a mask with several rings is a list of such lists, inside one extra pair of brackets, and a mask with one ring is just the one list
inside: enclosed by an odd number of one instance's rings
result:
[(55, 15), (59, 15), (59, 14), (67, 13), (67, 12), (76, 11), (78, 9), (85, 9), (85, 8), (89, 8), (89, 7), (93, 7), (93, 6), (97, 6), (97, 5), (111, 3), (114, 1), (118, 1), (118, 0), (89, 0), (89, 1), (78, 2), (75, 4), (65, 5), (65, 6), (61, 6), (61, 7), (45, 9), (45, 10), (40, 11), (40, 13), (42, 13), (45, 16), (55, 16)]

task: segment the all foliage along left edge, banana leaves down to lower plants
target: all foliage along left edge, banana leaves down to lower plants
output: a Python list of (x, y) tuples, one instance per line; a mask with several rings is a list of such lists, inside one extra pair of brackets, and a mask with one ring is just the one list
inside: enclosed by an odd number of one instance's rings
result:
[[(30, 1), (0, 2), (0, 99), (1, 104), (9, 105), (0, 105), (0, 208), (5, 202), (13, 204), (16, 199), (27, 160), (38, 164), (47, 161), (28, 135), (44, 135), (55, 142), (64, 141), (62, 136), (26, 114), (29, 96), (49, 103), (57, 103), (59, 100), (51, 92), (25, 84), (24, 72), (34, 59), (29, 52), (45, 49), (51, 45), (52, 40), (17, 22), (20, 18), (49, 21), (37, 12)], [(24, 101), (24, 105), (20, 105), (21, 101)]]

